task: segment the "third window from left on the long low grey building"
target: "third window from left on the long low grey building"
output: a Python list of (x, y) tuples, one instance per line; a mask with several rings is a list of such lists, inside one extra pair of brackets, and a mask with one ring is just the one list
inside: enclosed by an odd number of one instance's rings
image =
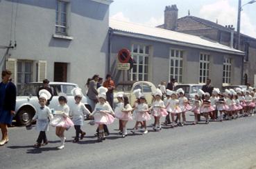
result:
[[(203, 60), (201, 59), (201, 56), (203, 56)], [(207, 57), (207, 59), (205, 59)], [(206, 80), (210, 77), (210, 57), (211, 55), (208, 53), (200, 53), (199, 54), (199, 76), (198, 76), (198, 83), (206, 83)], [(202, 63), (202, 68), (200, 68), (200, 65)], [(204, 68), (205, 66), (205, 68)], [(205, 70), (205, 75), (203, 74)], [(202, 72), (202, 74), (200, 74)], [(200, 81), (200, 79), (202, 79)]]

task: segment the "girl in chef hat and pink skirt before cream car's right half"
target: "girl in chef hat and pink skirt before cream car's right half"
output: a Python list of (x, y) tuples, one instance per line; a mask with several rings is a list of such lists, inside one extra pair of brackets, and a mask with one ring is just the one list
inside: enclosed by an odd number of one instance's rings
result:
[(144, 97), (144, 95), (142, 95), (142, 93), (139, 92), (137, 93), (137, 95), (139, 95), (139, 103), (137, 105), (137, 107), (135, 108), (135, 128), (133, 130), (131, 130), (131, 132), (135, 133), (137, 128), (138, 128), (138, 124), (139, 121), (143, 121), (143, 127), (144, 127), (144, 134), (148, 133), (148, 130), (146, 129), (146, 121), (149, 121), (151, 119), (151, 116), (148, 114), (148, 105), (146, 103), (146, 98)]

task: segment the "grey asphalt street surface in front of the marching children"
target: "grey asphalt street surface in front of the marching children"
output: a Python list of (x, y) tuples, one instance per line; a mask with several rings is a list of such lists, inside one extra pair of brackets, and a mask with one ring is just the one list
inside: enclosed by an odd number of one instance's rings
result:
[[(128, 122), (128, 128), (134, 123)], [(63, 150), (56, 148), (60, 141), (54, 128), (47, 133), (48, 145), (33, 148), (35, 128), (14, 127), (9, 129), (10, 142), (0, 147), (0, 168), (256, 168), (256, 116), (201, 123), (160, 132), (148, 128), (146, 135), (138, 132), (123, 139), (116, 120), (109, 126), (111, 135), (98, 143), (96, 126), (86, 122), (87, 137), (72, 143), (75, 132), (69, 129)]]

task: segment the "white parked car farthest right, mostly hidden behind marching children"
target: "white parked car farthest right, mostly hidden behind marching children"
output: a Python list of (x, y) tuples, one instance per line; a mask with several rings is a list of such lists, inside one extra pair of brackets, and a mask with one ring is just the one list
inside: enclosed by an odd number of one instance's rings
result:
[(178, 84), (174, 87), (174, 90), (178, 90), (178, 88), (182, 88), (185, 92), (185, 97), (187, 99), (193, 99), (195, 94), (201, 89), (203, 84)]

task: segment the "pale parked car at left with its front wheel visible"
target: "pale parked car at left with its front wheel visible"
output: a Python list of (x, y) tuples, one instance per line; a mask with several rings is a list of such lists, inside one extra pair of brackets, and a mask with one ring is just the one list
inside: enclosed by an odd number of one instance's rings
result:
[[(33, 116), (35, 115), (35, 108), (39, 106), (37, 99), (37, 91), (42, 86), (42, 83), (27, 83), (22, 90), (19, 91), (16, 99), (16, 108), (15, 108), (15, 120), (18, 125), (26, 125), (31, 121)], [(71, 94), (71, 90), (78, 87), (78, 85), (74, 83), (63, 83), (63, 82), (50, 82), (49, 83), (51, 90), (53, 90), (53, 99), (49, 105), (49, 108), (56, 109), (58, 106), (58, 93), (64, 92), (67, 95), (67, 104), (74, 104), (74, 96)], [(88, 110), (92, 110), (91, 106), (92, 102), (87, 97), (87, 95), (83, 96), (82, 103), (88, 108)]]

